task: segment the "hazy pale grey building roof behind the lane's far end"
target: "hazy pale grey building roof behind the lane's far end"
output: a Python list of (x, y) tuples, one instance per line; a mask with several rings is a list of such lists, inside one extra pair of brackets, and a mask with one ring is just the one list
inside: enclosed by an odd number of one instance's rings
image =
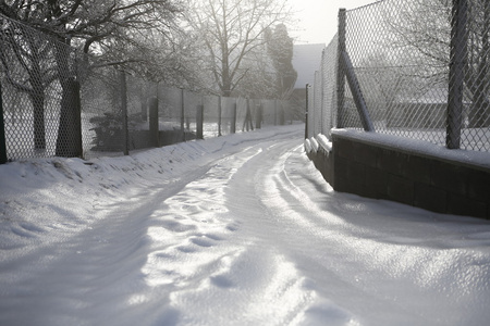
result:
[(315, 72), (320, 70), (323, 49), (323, 43), (295, 45), (293, 47), (293, 67), (297, 72), (295, 89), (305, 88), (306, 84), (314, 84)]

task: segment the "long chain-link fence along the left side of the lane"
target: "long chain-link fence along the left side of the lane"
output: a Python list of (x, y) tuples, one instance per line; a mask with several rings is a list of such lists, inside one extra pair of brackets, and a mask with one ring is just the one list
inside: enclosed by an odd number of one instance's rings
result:
[(144, 80), (2, 15), (0, 109), (3, 161), (127, 154), (294, 116), (287, 101), (221, 98)]

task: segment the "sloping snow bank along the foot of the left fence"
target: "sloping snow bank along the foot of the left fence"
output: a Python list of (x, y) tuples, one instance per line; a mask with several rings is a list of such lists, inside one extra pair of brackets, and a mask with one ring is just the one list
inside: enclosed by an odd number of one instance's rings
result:
[[(103, 218), (94, 213), (99, 198), (115, 204), (134, 187), (172, 183), (205, 166), (213, 154), (238, 151), (250, 141), (290, 134), (297, 126), (236, 134), (206, 141), (138, 151), (130, 156), (34, 159), (0, 165), (0, 249), (64, 240)], [(222, 153), (221, 153), (222, 154)], [(41, 239), (41, 240), (40, 240)]]

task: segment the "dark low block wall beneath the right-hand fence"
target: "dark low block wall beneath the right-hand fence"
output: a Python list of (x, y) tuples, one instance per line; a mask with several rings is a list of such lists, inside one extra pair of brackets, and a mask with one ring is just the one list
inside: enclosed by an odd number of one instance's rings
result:
[(490, 168), (332, 135), (332, 151), (310, 153), (336, 191), (439, 213), (490, 218)]

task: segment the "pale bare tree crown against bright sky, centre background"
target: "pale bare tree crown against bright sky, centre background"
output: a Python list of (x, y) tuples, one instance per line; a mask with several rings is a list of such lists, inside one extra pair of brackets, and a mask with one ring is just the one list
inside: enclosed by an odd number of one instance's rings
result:
[(265, 33), (284, 22), (285, 0), (196, 0), (189, 22), (200, 33), (209, 70), (219, 92), (229, 97), (250, 72), (247, 58), (260, 48)]

